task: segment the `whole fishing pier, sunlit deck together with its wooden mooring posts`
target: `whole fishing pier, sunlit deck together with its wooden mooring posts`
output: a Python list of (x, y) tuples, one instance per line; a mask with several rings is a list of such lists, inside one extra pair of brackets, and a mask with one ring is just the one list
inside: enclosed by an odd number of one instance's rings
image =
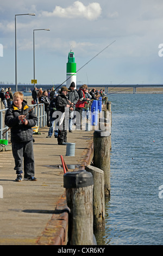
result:
[(39, 127), (33, 135), (37, 181), (15, 182), (9, 136), (0, 151), (0, 245), (96, 245), (93, 230), (105, 228), (104, 197), (110, 195), (110, 101), (96, 112), (95, 123), (85, 119), (82, 130), (74, 126), (66, 145), (58, 145), (54, 134), (46, 138), (49, 127)]

